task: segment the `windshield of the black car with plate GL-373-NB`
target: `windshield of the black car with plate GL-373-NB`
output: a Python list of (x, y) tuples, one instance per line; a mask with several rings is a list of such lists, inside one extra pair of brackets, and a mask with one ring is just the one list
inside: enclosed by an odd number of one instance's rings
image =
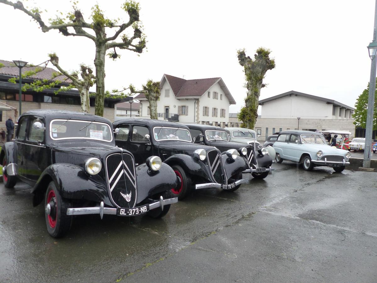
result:
[(113, 133), (110, 126), (106, 123), (55, 119), (50, 123), (50, 137), (53, 140), (67, 139), (89, 139), (112, 141)]

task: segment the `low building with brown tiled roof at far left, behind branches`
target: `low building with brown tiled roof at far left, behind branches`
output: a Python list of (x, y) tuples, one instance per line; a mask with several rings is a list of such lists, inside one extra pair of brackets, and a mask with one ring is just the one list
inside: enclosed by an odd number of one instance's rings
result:
[[(25, 74), (28, 71), (34, 70), (37, 67), (26, 65), (22, 68), (22, 73)], [(8, 82), (9, 78), (17, 77), (19, 75), (19, 69), (13, 62), (0, 60), (0, 102), (6, 105), (12, 106), (18, 110), (18, 83), (14, 84)], [(37, 72), (30, 77), (22, 79), (23, 83), (31, 83), (35, 80), (49, 81), (59, 80), (60, 86), (68, 86), (72, 81), (64, 75), (58, 75), (58, 72), (52, 68), (45, 68), (43, 71)], [(45, 89), (41, 92), (25, 91), (22, 92), (22, 112), (26, 112), (33, 109), (59, 109), (67, 111), (81, 111), (80, 95), (77, 90), (71, 89), (68, 91), (61, 91), (55, 94), (58, 88)], [(114, 120), (115, 116), (115, 104), (123, 102), (122, 99), (105, 98), (104, 102), (104, 117), (110, 121)], [(95, 97), (90, 97), (90, 113), (94, 114)], [(0, 111), (1, 112), (1, 111)], [(0, 131), (5, 129), (5, 121), (9, 116), (13, 117), (16, 121), (18, 112), (14, 111), (2, 111), (0, 113)], [(17, 116), (17, 117), (14, 117)]]

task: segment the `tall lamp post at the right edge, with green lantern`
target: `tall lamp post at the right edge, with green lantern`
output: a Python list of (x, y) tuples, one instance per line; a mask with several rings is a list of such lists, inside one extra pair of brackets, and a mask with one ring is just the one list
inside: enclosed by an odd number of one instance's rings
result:
[(376, 83), (376, 52), (377, 52), (377, 42), (376, 42), (376, 29), (377, 29), (377, 0), (374, 6), (374, 29), (373, 29), (373, 40), (368, 45), (369, 57), (372, 60), (371, 63), (371, 76), (369, 79), (369, 96), (368, 96), (368, 109), (366, 112), (366, 130), (365, 130), (365, 148), (364, 148), (364, 160), (363, 167), (371, 167), (371, 147), (372, 147), (372, 131), (373, 131), (373, 112), (374, 112), (374, 94), (375, 94), (375, 83)]

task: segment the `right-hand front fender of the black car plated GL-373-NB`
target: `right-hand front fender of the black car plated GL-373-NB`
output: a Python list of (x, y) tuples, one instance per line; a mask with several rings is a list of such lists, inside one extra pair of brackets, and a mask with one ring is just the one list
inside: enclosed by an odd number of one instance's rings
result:
[(165, 163), (161, 164), (158, 171), (150, 170), (146, 163), (136, 166), (136, 180), (138, 188), (136, 203), (177, 186), (177, 176)]

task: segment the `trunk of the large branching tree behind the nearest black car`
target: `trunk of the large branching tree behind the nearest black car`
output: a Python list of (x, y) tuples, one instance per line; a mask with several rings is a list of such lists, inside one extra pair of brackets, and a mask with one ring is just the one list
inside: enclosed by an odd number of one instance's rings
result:
[(104, 43), (96, 43), (94, 59), (96, 95), (95, 95), (95, 115), (103, 117), (103, 107), (105, 102), (105, 55), (106, 48)]

